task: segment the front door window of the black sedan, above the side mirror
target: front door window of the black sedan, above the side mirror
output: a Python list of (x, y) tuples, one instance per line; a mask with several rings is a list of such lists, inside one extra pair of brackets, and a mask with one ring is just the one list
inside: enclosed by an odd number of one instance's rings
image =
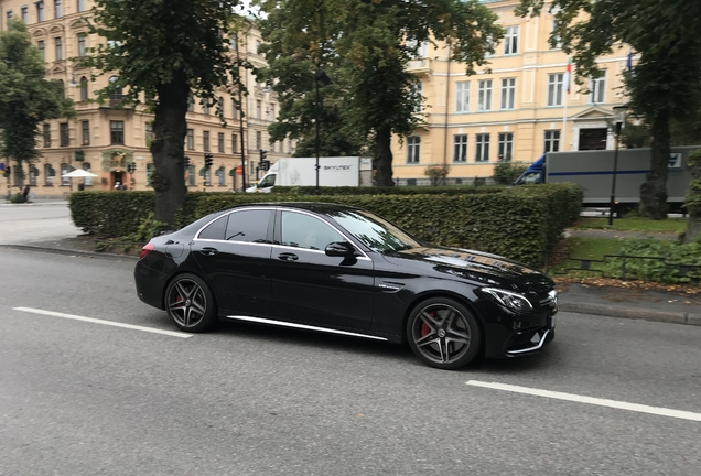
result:
[(323, 250), (333, 241), (346, 241), (328, 224), (295, 212), (282, 212), (281, 234), (281, 245), (313, 250)]

